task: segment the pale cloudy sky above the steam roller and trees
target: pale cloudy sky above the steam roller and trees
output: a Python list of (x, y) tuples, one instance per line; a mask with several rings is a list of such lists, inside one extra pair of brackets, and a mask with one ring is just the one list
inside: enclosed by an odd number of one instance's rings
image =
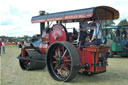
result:
[(32, 24), (31, 18), (41, 10), (54, 13), (103, 5), (120, 12), (116, 24), (128, 20), (128, 0), (0, 0), (0, 36), (39, 34), (40, 24)]

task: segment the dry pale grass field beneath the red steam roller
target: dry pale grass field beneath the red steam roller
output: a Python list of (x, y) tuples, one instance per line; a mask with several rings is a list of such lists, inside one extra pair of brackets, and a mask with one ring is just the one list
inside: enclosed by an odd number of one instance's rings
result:
[(128, 85), (128, 57), (109, 58), (106, 73), (91, 77), (77, 75), (71, 82), (58, 82), (44, 70), (23, 71), (16, 56), (20, 49), (7, 46), (6, 54), (0, 56), (1, 85)]

